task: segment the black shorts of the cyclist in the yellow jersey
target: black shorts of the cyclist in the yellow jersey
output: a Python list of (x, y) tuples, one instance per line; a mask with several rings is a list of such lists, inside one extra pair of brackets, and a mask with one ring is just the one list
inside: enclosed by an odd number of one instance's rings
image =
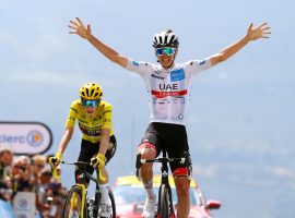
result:
[[(99, 143), (101, 142), (92, 143), (90, 141), (86, 141), (86, 140), (82, 138), (81, 150), (80, 150), (78, 161), (90, 162), (91, 158), (93, 158), (93, 156), (97, 155), (97, 153), (99, 150)], [(106, 155), (105, 155), (106, 164), (115, 155), (116, 147), (117, 147), (116, 137), (115, 137), (115, 135), (111, 135), (109, 137), (109, 146), (108, 146)], [(94, 168), (92, 166), (87, 166), (86, 171), (92, 174), (94, 172)], [(78, 175), (80, 174), (80, 172), (78, 170), (75, 170), (74, 174), (75, 174), (75, 182), (78, 182)], [(86, 179), (86, 181), (88, 182), (90, 180)]]

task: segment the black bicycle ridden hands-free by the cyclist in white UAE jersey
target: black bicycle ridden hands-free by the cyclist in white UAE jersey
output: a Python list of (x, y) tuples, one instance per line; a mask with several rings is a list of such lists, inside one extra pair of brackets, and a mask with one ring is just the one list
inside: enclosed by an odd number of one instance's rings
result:
[(190, 179), (191, 161), (188, 153), (184, 154), (182, 158), (169, 158), (167, 152), (162, 150), (163, 157), (155, 159), (141, 159), (141, 155), (137, 156), (137, 177), (139, 178), (139, 169), (145, 162), (161, 162), (161, 184), (158, 189), (157, 201), (157, 218), (175, 218), (175, 210), (173, 205), (172, 187), (168, 180), (168, 162), (178, 161), (187, 167), (187, 177)]

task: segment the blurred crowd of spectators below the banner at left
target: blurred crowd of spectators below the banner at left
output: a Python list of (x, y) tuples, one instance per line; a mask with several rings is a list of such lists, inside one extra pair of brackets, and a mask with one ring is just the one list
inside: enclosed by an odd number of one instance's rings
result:
[[(59, 218), (66, 187), (52, 177), (46, 155), (16, 156), (0, 147), (0, 199), (13, 204), (19, 192), (31, 192), (36, 196), (36, 213), (42, 218)], [(58, 168), (58, 173), (61, 169)]]

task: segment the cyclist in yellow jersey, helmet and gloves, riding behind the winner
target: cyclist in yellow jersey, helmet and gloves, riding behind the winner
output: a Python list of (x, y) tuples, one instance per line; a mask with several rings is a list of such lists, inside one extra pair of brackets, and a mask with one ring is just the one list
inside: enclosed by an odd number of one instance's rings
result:
[[(88, 82), (80, 88), (81, 99), (74, 100), (71, 105), (66, 130), (59, 143), (55, 157), (49, 159), (52, 168), (56, 168), (62, 159), (78, 120), (80, 130), (83, 133), (81, 150), (78, 160), (91, 162), (87, 171), (92, 174), (94, 168), (99, 168), (106, 177), (106, 181), (99, 182), (102, 201), (99, 216), (109, 217), (110, 204), (108, 201), (108, 174), (105, 164), (108, 162), (116, 152), (116, 137), (111, 128), (111, 105), (103, 101), (103, 89), (97, 83)], [(75, 171), (78, 182), (79, 172)], [(88, 180), (87, 180), (88, 182)]]

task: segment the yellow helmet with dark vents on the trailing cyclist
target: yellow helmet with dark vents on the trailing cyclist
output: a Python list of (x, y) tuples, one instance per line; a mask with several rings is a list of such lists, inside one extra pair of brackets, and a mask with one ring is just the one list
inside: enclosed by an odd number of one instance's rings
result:
[(85, 83), (79, 90), (80, 97), (87, 100), (102, 100), (103, 88), (98, 83)]

